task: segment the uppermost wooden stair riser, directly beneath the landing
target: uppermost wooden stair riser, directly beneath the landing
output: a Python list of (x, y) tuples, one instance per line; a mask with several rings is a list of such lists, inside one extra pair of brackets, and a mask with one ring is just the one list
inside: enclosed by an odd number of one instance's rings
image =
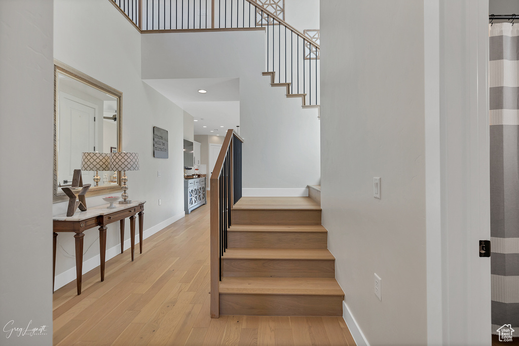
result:
[(320, 210), (233, 210), (233, 224), (321, 225)]

